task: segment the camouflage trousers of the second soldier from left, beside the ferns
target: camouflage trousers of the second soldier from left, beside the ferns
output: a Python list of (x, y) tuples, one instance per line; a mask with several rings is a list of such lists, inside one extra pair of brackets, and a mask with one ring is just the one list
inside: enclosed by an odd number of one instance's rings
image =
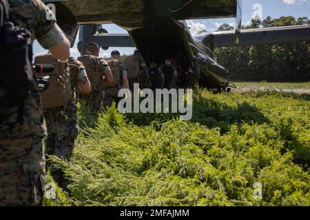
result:
[[(48, 138), (45, 141), (46, 153), (63, 159), (70, 159), (74, 148), (74, 140), (79, 135), (77, 113), (74, 100), (65, 107), (46, 109), (44, 111)], [(60, 171), (52, 166), (52, 173)]]

